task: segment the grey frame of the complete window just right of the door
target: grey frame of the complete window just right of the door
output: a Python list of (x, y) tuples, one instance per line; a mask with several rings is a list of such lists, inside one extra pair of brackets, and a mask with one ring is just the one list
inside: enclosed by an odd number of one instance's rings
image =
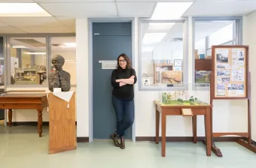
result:
[[(142, 24), (143, 23), (183, 23), (183, 69), (182, 69), (182, 79), (183, 84), (180, 86), (173, 87), (163, 87), (163, 86), (142, 86)], [(188, 89), (188, 17), (184, 17), (181, 20), (153, 20), (150, 18), (139, 18), (138, 20), (138, 81), (139, 81), (139, 91), (187, 91)]]

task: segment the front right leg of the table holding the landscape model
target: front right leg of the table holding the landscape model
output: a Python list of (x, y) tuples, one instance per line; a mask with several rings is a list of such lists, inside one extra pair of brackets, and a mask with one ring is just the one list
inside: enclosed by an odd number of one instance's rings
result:
[(211, 156), (212, 135), (211, 135), (211, 114), (210, 109), (206, 108), (205, 130), (206, 130), (206, 155)]

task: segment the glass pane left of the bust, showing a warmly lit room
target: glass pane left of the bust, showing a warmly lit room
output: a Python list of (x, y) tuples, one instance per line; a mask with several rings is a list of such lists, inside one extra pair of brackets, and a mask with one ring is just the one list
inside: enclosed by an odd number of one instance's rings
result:
[(45, 37), (11, 37), (11, 84), (47, 85)]

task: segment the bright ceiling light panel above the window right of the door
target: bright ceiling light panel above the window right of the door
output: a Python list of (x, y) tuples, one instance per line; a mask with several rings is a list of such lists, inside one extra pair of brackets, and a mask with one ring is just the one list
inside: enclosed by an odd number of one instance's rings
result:
[(157, 2), (151, 18), (157, 20), (175, 20), (182, 17), (194, 2)]

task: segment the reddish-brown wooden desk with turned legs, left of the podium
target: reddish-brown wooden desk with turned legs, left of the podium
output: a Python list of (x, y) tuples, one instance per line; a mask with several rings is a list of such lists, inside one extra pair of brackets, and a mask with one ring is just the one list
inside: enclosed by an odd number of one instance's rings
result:
[(35, 109), (38, 110), (38, 133), (42, 133), (42, 111), (47, 107), (47, 94), (36, 94), (32, 92), (3, 92), (0, 94), (0, 109), (8, 109), (8, 125), (11, 127), (12, 110)]

